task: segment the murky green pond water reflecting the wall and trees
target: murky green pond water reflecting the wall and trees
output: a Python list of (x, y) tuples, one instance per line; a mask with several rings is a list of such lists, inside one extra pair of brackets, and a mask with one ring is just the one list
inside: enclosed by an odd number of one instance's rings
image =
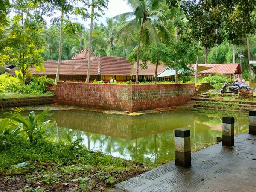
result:
[[(28, 115), (30, 111), (23, 111)], [(41, 113), (35, 110), (35, 113)], [(189, 128), (192, 151), (216, 143), (222, 136), (223, 115), (206, 111), (175, 110), (165, 113), (125, 116), (83, 110), (52, 110), (47, 119), (56, 126), (47, 130), (53, 139), (83, 139), (88, 149), (102, 151), (143, 163), (159, 163), (174, 158), (174, 129)], [(6, 114), (0, 114), (0, 118)], [(248, 115), (235, 116), (235, 133), (248, 129)]]

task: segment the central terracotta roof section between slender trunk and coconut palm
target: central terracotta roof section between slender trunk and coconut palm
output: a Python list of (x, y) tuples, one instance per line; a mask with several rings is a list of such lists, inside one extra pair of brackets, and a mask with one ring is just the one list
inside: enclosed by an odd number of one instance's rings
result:
[(98, 56), (91, 61), (91, 69), (101, 75), (131, 75), (132, 64), (124, 57)]

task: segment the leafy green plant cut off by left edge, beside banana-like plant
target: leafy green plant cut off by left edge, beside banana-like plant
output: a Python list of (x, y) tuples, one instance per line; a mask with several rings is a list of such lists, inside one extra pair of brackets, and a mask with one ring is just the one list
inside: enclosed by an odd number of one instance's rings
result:
[(13, 125), (11, 120), (3, 119), (0, 123), (0, 151), (20, 134), (21, 124)]

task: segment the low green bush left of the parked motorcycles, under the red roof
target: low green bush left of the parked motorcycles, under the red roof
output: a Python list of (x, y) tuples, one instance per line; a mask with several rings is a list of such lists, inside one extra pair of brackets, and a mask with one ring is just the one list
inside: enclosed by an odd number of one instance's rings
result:
[(200, 82), (209, 82), (215, 89), (221, 89), (225, 82), (230, 82), (230, 78), (223, 75), (209, 75), (202, 78)]

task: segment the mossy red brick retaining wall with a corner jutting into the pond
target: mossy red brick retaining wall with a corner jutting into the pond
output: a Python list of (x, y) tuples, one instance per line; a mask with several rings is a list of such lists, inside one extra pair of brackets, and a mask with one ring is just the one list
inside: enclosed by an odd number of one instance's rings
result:
[(184, 104), (194, 84), (117, 85), (58, 82), (60, 104), (130, 112)]

